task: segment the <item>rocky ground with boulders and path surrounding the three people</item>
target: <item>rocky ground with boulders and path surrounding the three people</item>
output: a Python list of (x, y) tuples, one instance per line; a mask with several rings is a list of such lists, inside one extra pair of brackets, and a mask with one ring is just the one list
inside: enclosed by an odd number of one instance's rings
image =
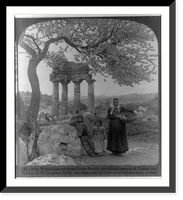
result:
[[(154, 118), (150, 121), (139, 118), (127, 124), (129, 151), (122, 157), (112, 156), (109, 151), (106, 151), (103, 156), (89, 157), (84, 154), (81, 142), (77, 138), (77, 130), (68, 124), (74, 117), (76, 116), (41, 125), (37, 143), (39, 157), (31, 163), (27, 163), (27, 153), (31, 152), (34, 134), (32, 133), (29, 138), (27, 149), (25, 142), (18, 135), (23, 122), (17, 122), (16, 163), (19, 165), (155, 165), (158, 163), (160, 134), (159, 123)], [(84, 119), (92, 124), (88, 121), (87, 115), (84, 115)], [(108, 121), (103, 120), (103, 123), (107, 128)]]

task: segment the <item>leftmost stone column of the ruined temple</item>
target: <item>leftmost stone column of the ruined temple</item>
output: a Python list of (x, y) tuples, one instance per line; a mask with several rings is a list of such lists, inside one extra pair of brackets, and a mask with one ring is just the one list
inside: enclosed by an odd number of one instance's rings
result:
[(52, 114), (54, 117), (59, 117), (59, 81), (54, 80), (52, 93)]

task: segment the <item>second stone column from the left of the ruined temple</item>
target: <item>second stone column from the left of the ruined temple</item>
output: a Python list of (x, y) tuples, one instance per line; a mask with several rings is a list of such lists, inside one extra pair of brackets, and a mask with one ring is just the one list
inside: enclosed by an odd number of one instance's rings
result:
[(68, 114), (68, 84), (70, 83), (69, 80), (60, 81), (62, 84), (62, 114)]

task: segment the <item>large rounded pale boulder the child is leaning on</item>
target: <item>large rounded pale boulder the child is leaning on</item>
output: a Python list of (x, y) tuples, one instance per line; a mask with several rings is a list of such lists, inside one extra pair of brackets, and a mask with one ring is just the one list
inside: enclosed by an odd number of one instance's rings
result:
[(84, 150), (77, 130), (68, 124), (56, 124), (44, 127), (38, 140), (39, 155), (50, 153), (81, 157)]

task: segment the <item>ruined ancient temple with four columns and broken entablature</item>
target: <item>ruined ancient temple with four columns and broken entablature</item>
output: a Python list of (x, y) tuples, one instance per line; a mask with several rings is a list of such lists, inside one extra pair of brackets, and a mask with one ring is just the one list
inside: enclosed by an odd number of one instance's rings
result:
[(83, 80), (88, 83), (88, 109), (94, 110), (94, 82), (92, 75), (89, 74), (89, 66), (81, 63), (60, 60), (54, 65), (50, 74), (50, 81), (53, 83), (52, 113), (59, 117), (59, 83), (62, 84), (62, 114), (68, 114), (68, 84), (74, 83), (74, 108), (80, 104), (80, 84)]

